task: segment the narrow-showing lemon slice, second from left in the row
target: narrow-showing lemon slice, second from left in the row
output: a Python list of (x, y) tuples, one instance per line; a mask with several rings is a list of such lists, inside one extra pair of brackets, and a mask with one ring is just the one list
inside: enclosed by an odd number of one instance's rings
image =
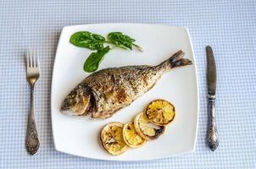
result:
[(129, 147), (136, 148), (141, 147), (143, 144), (146, 143), (146, 139), (143, 139), (135, 130), (134, 124), (125, 123), (123, 128), (123, 137), (125, 140), (125, 144)]

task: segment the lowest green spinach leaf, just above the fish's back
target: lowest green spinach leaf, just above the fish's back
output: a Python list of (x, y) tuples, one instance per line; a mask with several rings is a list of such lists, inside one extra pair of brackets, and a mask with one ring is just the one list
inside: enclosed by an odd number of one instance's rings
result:
[(92, 52), (89, 57), (86, 59), (84, 63), (84, 70), (86, 72), (95, 72), (99, 66), (99, 64), (103, 61), (104, 55), (109, 52), (109, 46), (106, 46), (97, 52)]

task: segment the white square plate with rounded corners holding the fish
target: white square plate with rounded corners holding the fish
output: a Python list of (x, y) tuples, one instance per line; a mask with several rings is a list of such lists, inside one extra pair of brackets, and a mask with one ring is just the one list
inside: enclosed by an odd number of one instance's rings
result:
[[(70, 117), (59, 111), (64, 97), (87, 74), (83, 63), (92, 52), (70, 44), (70, 35), (88, 30), (100, 35), (120, 31), (136, 39), (144, 52), (115, 48), (103, 59), (100, 69), (127, 65), (155, 65), (178, 50), (192, 60), (191, 66), (175, 68), (163, 75), (157, 85), (142, 95), (131, 106), (120, 110), (105, 120), (90, 117)], [(142, 161), (177, 155), (195, 149), (198, 128), (198, 82), (192, 43), (186, 28), (146, 24), (97, 24), (64, 27), (58, 41), (52, 82), (52, 123), (55, 149), (71, 155), (109, 161)], [(174, 104), (175, 122), (165, 133), (144, 146), (112, 156), (103, 150), (98, 141), (100, 129), (109, 122), (127, 123), (148, 102), (162, 98)]]

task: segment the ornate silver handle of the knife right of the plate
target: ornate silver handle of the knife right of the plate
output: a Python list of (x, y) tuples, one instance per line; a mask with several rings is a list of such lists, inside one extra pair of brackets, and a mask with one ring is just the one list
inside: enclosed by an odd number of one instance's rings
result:
[(209, 148), (214, 151), (219, 146), (219, 138), (215, 120), (215, 95), (209, 95)]

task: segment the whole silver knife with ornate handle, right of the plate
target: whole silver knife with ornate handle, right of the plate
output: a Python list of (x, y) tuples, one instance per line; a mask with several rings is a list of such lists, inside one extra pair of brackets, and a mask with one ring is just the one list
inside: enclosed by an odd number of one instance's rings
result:
[(208, 87), (208, 111), (209, 111), (209, 136), (208, 143), (210, 150), (214, 151), (219, 146), (219, 138), (215, 119), (215, 93), (217, 73), (214, 61), (214, 52), (211, 46), (206, 46), (207, 54), (207, 87)]

